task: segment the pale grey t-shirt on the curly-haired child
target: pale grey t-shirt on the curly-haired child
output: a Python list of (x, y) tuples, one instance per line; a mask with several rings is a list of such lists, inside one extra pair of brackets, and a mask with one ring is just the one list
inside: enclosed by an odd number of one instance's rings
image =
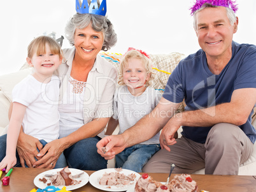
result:
[[(120, 131), (123, 133), (135, 125), (141, 118), (157, 106), (162, 94), (153, 88), (147, 87), (140, 96), (133, 96), (127, 86), (120, 86), (115, 92), (113, 103), (113, 118), (118, 119)], [(153, 138), (148, 139), (141, 144), (157, 144), (159, 143), (159, 135), (157, 133)]]

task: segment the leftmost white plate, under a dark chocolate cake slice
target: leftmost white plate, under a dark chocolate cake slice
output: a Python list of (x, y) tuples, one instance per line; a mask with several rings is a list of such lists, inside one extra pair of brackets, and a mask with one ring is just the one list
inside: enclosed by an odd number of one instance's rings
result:
[[(57, 172), (59, 172), (60, 170), (62, 170), (62, 168), (60, 168), (60, 169), (51, 169), (51, 170), (46, 170), (45, 172), (42, 172), (41, 174), (39, 174), (38, 176), (36, 176), (34, 178), (34, 185), (37, 186), (40, 189), (45, 189), (47, 187), (47, 184), (43, 183), (42, 181), (39, 181), (39, 179), (40, 178), (42, 179), (45, 176), (45, 174), (57, 174)], [(73, 168), (69, 168), (69, 170), (70, 170), (70, 172), (73, 176), (83, 172), (83, 170), (73, 169)], [(84, 174), (82, 174), (82, 176), (78, 177), (76, 180), (81, 181), (81, 182), (79, 184), (66, 186), (67, 191), (71, 191), (71, 190), (74, 190), (74, 189), (81, 188), (82, 186), (87, 184), (87, 182), (89, 181), (89, 175), (86, 172), (84, 172)], [(60, 189), (63, 188), (63, 186), (55, 186), (55, 187), (60, 188)]]

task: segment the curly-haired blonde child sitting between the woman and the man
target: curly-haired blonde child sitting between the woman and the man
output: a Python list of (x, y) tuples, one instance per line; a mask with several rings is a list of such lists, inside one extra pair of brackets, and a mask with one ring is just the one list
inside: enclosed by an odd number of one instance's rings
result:
[[(153, 79), (152, 61), (143, 51), (129, 48), (120, 63), (120, 78), (114, 103), (113, 117), (108, 122), (106, 135), (113, 133), (119, 124), (119, 134), (132, 127), (138, 120), (152, 112), (162, 94), (148, 87)], [(143, 143), (118, 153), (116, 167), (141, 172), (143, 165), (160, 150), (159, 133)]]

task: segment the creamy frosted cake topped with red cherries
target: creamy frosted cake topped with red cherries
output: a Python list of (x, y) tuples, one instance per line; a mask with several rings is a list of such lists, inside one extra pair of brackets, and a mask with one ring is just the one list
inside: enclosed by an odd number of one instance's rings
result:
[(174, 176), (174, 179), (171, 180), (168, 184), (162, 184), (161, 182), (153, 180), (148, 174), (143, 174), (139, 180), (136, 182), (134, 189), (135, 192), (167, 192), (167, 191), (188, 191), (196, 192), (197, 184), (190, 175), (181, 174), (180, 176)]

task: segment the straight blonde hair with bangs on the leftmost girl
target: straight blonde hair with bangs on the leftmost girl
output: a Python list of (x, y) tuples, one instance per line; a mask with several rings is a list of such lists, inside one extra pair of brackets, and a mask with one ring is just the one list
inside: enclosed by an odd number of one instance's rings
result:
[(31, 41), (27, 47), (27, 56), (32, 58), (33, 54), (37, 55), (45, 53), (45, 45), (48, 44), (52, 54), (59, 54), (60, 58), (64, 58), (60, 44), (49, 36), (39, 36)]

